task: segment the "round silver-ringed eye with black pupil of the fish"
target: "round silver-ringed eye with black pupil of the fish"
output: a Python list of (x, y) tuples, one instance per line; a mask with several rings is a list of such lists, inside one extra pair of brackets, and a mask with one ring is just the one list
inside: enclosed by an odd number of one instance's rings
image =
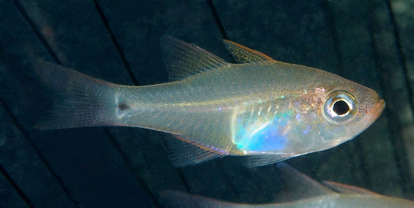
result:
[(344, 91), (330, 93), (323, 103), (322, 114), (332, 124), (346, 124), (356, 113), (356, 100)]

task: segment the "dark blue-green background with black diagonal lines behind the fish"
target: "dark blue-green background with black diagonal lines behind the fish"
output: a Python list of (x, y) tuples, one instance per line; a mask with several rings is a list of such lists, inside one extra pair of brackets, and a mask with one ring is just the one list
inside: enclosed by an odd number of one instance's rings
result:
[(117, 84), (167, 81), (159, 38), (233, 62), (226, 38), (275, 60), (324, 69), (377, 91), (387, 107), (355, 139), (287, 162), (316, 180), (414, 199), (414, 3), (408, 0), (0, 0), (0, 207), (158, 207), (173, 189), (243, 203), (280, 190), (276, 164), (226, 157), (175, 168), (156, 131), (38, 131), (53, 93), (37, 60)]

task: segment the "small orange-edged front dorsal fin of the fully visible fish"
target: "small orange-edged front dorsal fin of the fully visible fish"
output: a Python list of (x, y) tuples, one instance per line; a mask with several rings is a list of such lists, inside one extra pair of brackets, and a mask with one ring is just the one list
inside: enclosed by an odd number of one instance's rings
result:
[(243, 63), (274, 63), (276, 62), (268, 55), (261, 53), (257, 50), (247, 48), (246, 46), (234, 43), (228, 40), (223, 40), (226, 45), (227, 51), (233, 55), (233, 58)]

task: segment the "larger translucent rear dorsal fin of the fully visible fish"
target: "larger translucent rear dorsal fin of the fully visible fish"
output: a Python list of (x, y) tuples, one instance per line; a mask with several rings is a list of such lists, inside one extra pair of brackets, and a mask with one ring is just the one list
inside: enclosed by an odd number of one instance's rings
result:
[(229, 65), (197, 45), (171, 36), (162, 36), (161, 48), (170, 80), (181, 80), (210, 69)]

